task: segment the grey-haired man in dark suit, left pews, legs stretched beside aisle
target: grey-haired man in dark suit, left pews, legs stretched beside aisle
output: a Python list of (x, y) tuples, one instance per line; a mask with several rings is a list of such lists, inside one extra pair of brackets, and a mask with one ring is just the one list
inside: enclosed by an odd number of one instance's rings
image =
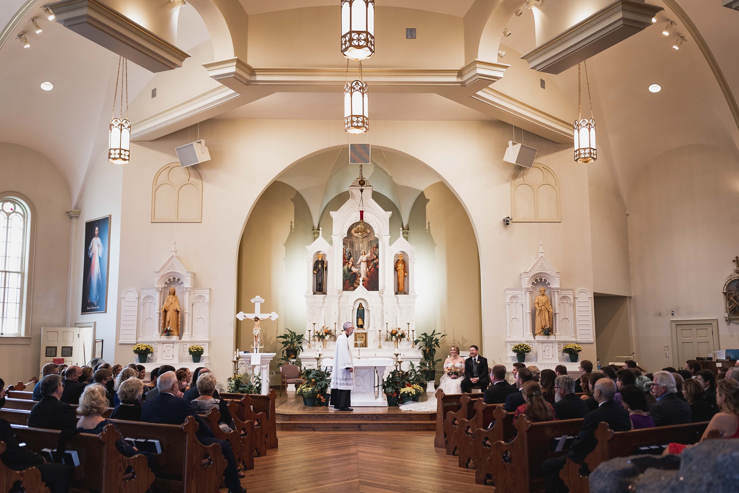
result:
[[(197, 439), (200, 443), (203, 445), (218, 443), (221, 446), (223, 457), (228, 463), (223, 472), (228, 491), (231, 493), (245, 493), (246, 490), (241, 487), (239, 473), (236, 470), (236, 460), (234, 459), (234, 452), (231, 451), (231, 445), (225, 440), (215, 438), (208, 424), (197, 415), (197, 410), (190, 401), (175, 397), (180, 390), (177, 374), (173, 371), (160, 374), (157, 378), (157, 389), (159, 389), (157, 395), (153, 398), (148, 397), (144, 401), (141, 409), (141, 421), (146, 423), (183, 424), (188, 416), (195, 418), (200, 426), (197, 430)], [(151, 390), (149, 393), (151, 394)]]

